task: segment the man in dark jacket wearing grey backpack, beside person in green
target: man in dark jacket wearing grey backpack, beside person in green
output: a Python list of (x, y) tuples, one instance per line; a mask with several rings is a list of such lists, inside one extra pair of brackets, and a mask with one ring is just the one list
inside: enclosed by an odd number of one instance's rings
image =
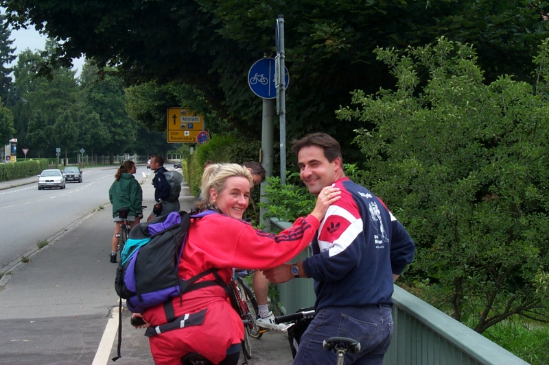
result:
[(151, 156), (150, 168), (154, 171), (152, 186), (154, 186), (156, 204), (147, 221), (157, 216), (165, 216), (170, 212), (179, 211), (179, 193), (183, 182), (183, 175), (177, 171), (167, 171), (164, 167), (164, 159), (159, 155)]

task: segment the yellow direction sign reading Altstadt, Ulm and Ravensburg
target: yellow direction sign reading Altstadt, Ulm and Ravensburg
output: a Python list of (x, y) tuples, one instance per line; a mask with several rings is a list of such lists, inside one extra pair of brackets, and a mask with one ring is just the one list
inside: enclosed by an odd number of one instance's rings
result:
[(189, 108), (167, 109), (167, 142), (196, 143), (198, 133), (204, 130), (204, 118)]

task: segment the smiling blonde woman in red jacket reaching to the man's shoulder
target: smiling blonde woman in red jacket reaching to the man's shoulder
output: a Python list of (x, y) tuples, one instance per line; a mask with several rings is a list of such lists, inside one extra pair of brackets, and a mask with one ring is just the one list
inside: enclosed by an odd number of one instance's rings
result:
[[(205, 175), (198, 208), (217, 214), (191, 220), (179, 262), (179, 276), (183, 279), (213, 267), (218, 268), (222, 281), (228, 284), (235, 267), (264, 270), (291, 260), (311, 242), (329, 205), (340, 194), (338, 188), (324, 188), (311, 214), (274, 235), (242, 221), (253, 184), (246, 168), (215, 164), (207, 167)], [(213, 275), (207, 275), (200, 281), (213, 279)], [(189, 323), (183, 321), (185, 327), (149, 338), (156, 365), (180, 365), (181, 357), (187, 353), (200, 353), (213, 364), (237, 364), (244, 325), (221, 286), (187, 292), (172, 299), (171, 304), (168, 310), (166, 305), (157, 305), (143, 313), (143, 319), (154, 327), (168, 323), (170, 316), (187, 318)]]

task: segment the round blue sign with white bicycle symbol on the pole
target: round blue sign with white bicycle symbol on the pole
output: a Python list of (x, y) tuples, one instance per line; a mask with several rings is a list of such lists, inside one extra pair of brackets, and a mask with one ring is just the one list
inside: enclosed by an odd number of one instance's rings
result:
[[(290, 73), (284, 66), (285, 89), (290, 84)], [(274, 58), (261, 58), (256, 61), (248, 71), (248, 85), (253, 93), (263, 99), (275, 99), (277, 97), (276, 82), (274, 80)]]

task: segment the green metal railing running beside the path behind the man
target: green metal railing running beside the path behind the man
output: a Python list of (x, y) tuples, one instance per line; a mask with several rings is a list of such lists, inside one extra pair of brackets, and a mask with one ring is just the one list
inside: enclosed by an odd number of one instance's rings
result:
[[(291, 227), (271, 219), (271, 230)], [(305, 249), (292, 261), (309, 257)], [(283, 313), (314, 305), (312, 279), (291, 280), (278, 286)], [(454, 318), (395, 285), (393, 293), (395, 332), (385, 365), (528, 365)]]

